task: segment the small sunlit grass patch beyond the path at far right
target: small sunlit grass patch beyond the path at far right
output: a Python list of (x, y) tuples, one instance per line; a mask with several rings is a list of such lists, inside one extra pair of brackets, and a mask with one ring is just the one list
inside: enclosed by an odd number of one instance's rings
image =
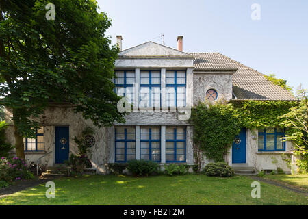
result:
[(266, 175), (266, 178), (287, 183), (308, 191), (308, 174), (301, 175)]

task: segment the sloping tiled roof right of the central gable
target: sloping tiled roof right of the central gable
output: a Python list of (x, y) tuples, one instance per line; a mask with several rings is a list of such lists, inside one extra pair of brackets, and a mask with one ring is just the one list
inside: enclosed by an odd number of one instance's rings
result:
[[(190, 53), (194, 55), (195, 70), (235, 69), (233, 99), (237, 100), (296, 100), (289, 91), (272, 84), (262, 73), (220, 53)], [(235, 98), (236, 97), (236, 98)]]

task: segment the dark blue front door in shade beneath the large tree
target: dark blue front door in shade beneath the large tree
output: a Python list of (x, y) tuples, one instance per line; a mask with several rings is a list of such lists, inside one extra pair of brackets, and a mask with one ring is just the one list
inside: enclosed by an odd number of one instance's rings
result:
[(68, 160), (70, 153), (69, 127), (55, 127), (55, 164), (62, 164)]

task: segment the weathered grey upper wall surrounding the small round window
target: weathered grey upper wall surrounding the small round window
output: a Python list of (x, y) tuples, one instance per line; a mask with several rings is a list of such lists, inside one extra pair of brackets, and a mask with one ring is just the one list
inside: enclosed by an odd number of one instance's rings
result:
[(194, 105), (205, 101), (209, 89), (217, 91), (218, 99), (232, 99), (232, 74), (194, 73)]

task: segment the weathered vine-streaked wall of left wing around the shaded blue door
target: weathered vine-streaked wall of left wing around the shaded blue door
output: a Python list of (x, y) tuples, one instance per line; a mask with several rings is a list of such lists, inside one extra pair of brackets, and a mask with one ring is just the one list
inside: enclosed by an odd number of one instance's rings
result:
[[(11, 115), (6, 111), (7, 122), (10, 122)], [(75, 114), (70, 107), (49, 107), (43, 116), (44, 118), (41, 117), (38, 121), (44, 126), (44, 152), (25, 152), (25, 157), (29, 162), (36, 162), (39, 157), (51, 152), (42, 159), (42, 164), (47, 164), (47, 166), (55, 164), (55, 126), (69, 126), (70, 154), (78, 153), (77, 144), (74, 142), (75, 136), (81, 136), (81, 132), (86, 127), (93, 127), (96, 142), (90, 149), (89, 154), (92, 155), (90, 160), (93, 168), (99, 172), (105, 172), (105, 162), (107, 162), (107, 129), (105, 127), (100, 129), (94, 127), (91, 120), (84, 120), (81, 114)], [(5, 134), (7, 141), (14, 145), (14, 127), (12, 125), (8, 127)]]

